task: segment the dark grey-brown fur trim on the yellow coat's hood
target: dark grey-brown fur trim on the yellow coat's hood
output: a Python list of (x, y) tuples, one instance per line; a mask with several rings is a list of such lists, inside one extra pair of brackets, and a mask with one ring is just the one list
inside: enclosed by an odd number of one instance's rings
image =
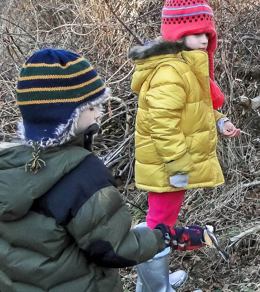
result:
[(129, 57), (133, 60), (143, 60), (153, 56), (177, 54), (181, 51), (190, 51), (183, 41), (165, 41), (161, 37), (148, 43), (146, 46), (136, 46), (129, 51)]

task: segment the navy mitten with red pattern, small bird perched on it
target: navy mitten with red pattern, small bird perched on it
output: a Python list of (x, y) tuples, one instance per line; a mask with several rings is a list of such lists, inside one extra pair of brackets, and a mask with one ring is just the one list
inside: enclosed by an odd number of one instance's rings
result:
[(174, 249), (189, 251), (205, 246), (204, 229), (198, 225), (174, 227), (160, 223), (154, 229), (160, 229), (166, 244)]

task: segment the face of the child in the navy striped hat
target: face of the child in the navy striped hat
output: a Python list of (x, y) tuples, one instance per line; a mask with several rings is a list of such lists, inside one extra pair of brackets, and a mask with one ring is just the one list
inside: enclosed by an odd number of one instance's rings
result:
[(97, 106), (80, 111), (75, 135), (85, 133), (86, 129), (92, 124), (95, 124), (100, 116), (101, 113)]

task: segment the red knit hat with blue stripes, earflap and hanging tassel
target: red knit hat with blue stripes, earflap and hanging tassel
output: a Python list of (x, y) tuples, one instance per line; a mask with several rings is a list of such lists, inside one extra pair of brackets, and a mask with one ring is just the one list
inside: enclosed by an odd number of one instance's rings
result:
[(207, 0), (166, 0), (162, 10), (162, 38), (178, 41), (190, 34), (208, 35), (207, 52), (209, 57), (209, 77), (213, 108), (224, 103), (224, 95), (214, 81), (213, 53), (217, 47), (217, 33), (213, 11)]

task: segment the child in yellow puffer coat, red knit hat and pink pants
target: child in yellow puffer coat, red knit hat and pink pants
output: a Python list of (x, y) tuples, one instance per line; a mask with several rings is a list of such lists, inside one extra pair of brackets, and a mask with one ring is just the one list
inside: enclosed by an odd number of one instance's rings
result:
[[(138, 188), (150, 191), (150, 228), (159, 222), (174, 225), (186, 189), (224, 183), (217, 132), (240, 135), (217, 111), (224, 96), (214, 81), (217, 35), (210, 6), (204, 0), (167, 0), (161, 33), (129, 52), (136, 63), (131, 88), (139, 95), (135, 180)], [(139, 277), (139, 282), (142, 292), (161, 291), (158, 283), (154, 290), (147, 284), (152, 279)]]

